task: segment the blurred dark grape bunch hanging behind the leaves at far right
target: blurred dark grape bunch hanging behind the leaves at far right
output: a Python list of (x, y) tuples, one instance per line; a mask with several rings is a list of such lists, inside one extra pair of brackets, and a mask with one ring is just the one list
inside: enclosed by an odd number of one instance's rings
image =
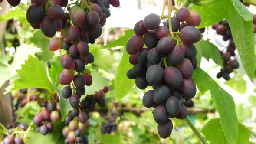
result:
[[(256, 15), (253, 15), (253, 26), (253, 33), (256, 33)], [(217, 73), (217, 78), (223, 77), (225, 80), (230, 80), (230, 73), (232, 73), (234, 69), (239, 68), (239, 63), (236, 60), (235, 53), (236, 45), (232, 37), (230, 26), (227, 20), (222, 20), (219, 23), (215, 23), (212, 28), (216, 30), (217, 34), (223, 36), (224, 41), (229, 40), (229, 45), (227, 48), (222, 51), (219, 50), (219, 53), (223, 59), (224, 69), (220, 69), (220, 72)]]

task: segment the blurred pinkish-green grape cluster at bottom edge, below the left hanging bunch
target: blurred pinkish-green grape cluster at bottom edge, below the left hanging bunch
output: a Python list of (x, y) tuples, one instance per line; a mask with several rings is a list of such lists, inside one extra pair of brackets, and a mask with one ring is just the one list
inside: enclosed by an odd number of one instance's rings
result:
[(62, 129), (62, 135), (66, 138), (65, 144), (75, 143), (88, 144), (88, 138), (82, 133), (90, 126), (88, 115), (85, 111), (79, 111), (77, 108), (72, 110), (64, 120), (66, 126)]

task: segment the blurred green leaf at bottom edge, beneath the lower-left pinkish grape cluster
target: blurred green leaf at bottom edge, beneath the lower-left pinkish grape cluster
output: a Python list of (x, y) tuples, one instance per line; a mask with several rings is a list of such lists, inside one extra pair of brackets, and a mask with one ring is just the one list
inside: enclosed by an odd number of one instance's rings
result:
[(36, 126), (32, 125), (32, 130), (28, 132), (26, 143), (28, 144), (63, 144), (62, 122), (53, 123), (53, 131), (42, 135), (36, 131)]

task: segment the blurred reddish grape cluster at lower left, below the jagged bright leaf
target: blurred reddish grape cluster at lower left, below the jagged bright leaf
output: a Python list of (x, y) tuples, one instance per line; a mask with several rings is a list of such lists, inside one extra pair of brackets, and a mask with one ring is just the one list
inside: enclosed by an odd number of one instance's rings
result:
[(43, 110), (34, 115), (33, 124), (37, 126), (36, 131), (46, 135), (53, 131), (52, 122), (59, 121), (61, 116), (59, 98), (48, 102), (41, 99), (39, 105), (43, 107)]

